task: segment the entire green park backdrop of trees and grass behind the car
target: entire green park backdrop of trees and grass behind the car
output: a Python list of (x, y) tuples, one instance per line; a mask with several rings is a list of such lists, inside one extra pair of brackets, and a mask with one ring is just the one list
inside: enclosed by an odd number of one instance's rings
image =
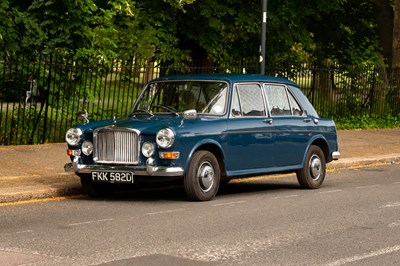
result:
[[(399, 126), (399, 2), (269, 0), (269, 74), (300, 83), (338, 128)], [(260, 0), (2, 0), (2, 143), (58, 138), (77, 109), (123, 115), (159, 75), (257, 73), (261, 17)], [(24, 103), (30, 75), (45, 106)]]

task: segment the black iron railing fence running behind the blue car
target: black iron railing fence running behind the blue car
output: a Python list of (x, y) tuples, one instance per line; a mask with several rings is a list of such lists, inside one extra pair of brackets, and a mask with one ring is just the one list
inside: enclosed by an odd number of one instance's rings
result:
[[(258, 73), (259, 65), (163, 66), (64, 56), (0, 58), (0, 145), (64, 141), (78, 111), (91, 120), (127, 115), (143, 85), (177, 73)], [(303, 64), (266, 69), (297, 82), (320, 116), (400, 114), (400, 73)]]

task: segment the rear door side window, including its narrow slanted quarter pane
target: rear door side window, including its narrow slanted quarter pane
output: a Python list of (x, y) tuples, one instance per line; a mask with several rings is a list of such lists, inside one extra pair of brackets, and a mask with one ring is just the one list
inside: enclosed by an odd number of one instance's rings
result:
[(293, 95), (282, 85), (264, 85), (271, 116), (302, 116), (303, 110)]

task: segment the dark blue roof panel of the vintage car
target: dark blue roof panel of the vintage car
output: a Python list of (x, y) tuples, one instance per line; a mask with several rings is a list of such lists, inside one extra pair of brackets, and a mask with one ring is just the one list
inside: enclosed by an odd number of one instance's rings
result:
[(235, 82), (268, 82), (268, 83), (284, 83), (298, 87), (298, 85), (288, 79), (259, 74), (189, 74), (164, 76), (153, 81), (173, 81), (173, 80), (220, 80), (230, 83)]

